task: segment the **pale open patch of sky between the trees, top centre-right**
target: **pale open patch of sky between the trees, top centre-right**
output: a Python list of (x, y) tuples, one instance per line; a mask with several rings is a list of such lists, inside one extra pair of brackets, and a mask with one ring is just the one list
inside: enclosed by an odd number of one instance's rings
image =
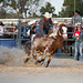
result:
[(59, 11), (61, 11), (62, 4), (64, 0), (45, 0), (50, 2), (55, 8), (55, 13), (58, 14)]

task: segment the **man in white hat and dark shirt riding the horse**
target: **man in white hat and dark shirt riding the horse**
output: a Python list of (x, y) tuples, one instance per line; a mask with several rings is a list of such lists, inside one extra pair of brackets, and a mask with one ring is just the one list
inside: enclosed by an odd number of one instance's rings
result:
[(48, 34), (48, 31), (51, 29), (51, 25), (53, 24), (51, 18), (52, 14), (45, 12), (45, 14), (43, 14), (39, 22), (39, 32), (41, 33), (41, 37), (43, 37), (44, 39), (46, 38), (45, 34)]

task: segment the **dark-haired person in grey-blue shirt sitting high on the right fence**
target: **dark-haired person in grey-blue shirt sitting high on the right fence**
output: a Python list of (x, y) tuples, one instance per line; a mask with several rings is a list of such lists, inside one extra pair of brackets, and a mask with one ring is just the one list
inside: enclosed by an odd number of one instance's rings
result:
[(75, 17), (72, 17), (71, 23), (74, 25), (74, 23), (81, 23), (82, 24), (82, 17), (79, 14), (80, 12), (75, 11)]

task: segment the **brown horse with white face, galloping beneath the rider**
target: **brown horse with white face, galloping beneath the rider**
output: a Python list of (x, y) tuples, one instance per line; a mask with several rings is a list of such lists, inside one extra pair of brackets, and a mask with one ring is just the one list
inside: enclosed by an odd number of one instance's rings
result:
[[(35, 60), (35, 64), (40, 63), (42, 65), (49, 66), (54, 53), (63, 46), (63, 40), (68, 39), (68, 29), (64, 24), (60, 24), (59, 30), (53, 31), (46, 39), (37, 38), (32, 42), (31, 50), (28, 53), (28, 58), (24, 63), (30, 60), (30, 55)], [(37, 52), (35, 52), (37, 51)], [(39, 55), (39, 58), (37, 58)], [(48, 58), (46, 58), (48, 55)]]

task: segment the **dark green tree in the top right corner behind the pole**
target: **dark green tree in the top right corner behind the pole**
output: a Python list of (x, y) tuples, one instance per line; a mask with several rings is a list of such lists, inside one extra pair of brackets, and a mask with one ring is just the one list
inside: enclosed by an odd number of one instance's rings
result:
[[(75, 0), (75, 9), (80, 11), (80, 14), (83, 15), (83, 1)], [(74, 0), (64, 0), (62, 11), (59, 12), (59, 17), (70, 18), (74, 12)]]

